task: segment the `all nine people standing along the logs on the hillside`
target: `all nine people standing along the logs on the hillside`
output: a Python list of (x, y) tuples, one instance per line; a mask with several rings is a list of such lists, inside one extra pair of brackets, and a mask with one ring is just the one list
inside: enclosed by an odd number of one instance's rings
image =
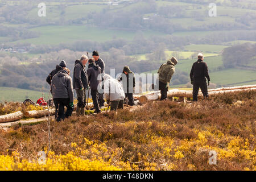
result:
[[(87, 63), (88, 69), (86, 70)], [(160, 100), (167, 100), (167, 92), (177, 63), (177, 59), (172, 57), (167, 63), (162, 64), (158, 70), (157, 84), (161, 93)], [(73, 112), (73, 89), (76, 90), (77, 94), (77, 116), (85, 115), (85, 107), (88, 104), (86, 103), (86, 90), (91, 90), (94, 113), (96, 114), (101, 113), (101, 108), (105, 106), (105, 100), (110, 109), (114, 111), (123, 109), (125, 98), (128, 100), (128, 105), (135, 105), (133, 95), (135, 88), (134, 73), (129, 66), (125, 66), (118, 79), (105, 74), (105, 63), (100, 58), (98, 51), (93, 51), (90, 59), (88, 56), (82, 55), (80, 60), (75, 61), (73, 82), (69, 75), (70, 70), (63, 60), (59, 65), (56, 65), (56, 69), (49, 73), (46, 79), (48, 84), (51, 85), (51, 93), (56, 108), (55, 117), (58, 122), (61, 119), (70, 117)], [(210, 77), (207, 64), (204, 62), (204, 55), (201, 53), (198, 55), (198, 60), (193, 63), (190, 78), (193, 85), (193, 101), (197, 101), (199, 88), (204, 97), (208, 98)], [(67, 107), (66, 112), (64, 111), (65, 107)]]

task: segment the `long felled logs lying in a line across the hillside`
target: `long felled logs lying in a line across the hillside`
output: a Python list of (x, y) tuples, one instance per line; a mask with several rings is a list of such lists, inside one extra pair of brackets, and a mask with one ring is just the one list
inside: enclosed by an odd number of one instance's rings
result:
[[(230, 93), (230, 92), (241, 92), (244, 90), (256, 90), (256, 85), (247, 85), (247, 86), (235, 86), (235, 87), (229, 87), (229, 88), (218, 88), (218, 89), (211, 89), (208, 90), (209, 96), (213, 96), (216, 94), (224, 94), (224, 93)], [(179, 90), (179, 89), (172, 89), (168, 91), (168, 97), (182, 97), (184, 98), (191, 98), (193, 97), (192, 90)], [(199, 92), (199, 97), (203, 97), (203, 94)], [(154, 101), (158, 100), (160, 98), (160, 92), (151, 92), (148, 94), (144, 94), (143, 96), (136, 95), (134, 96), (136, 102), (139, 102), (140, 104), (146, 104), (147, 101)], [(92, 103), (88, 104), (88, 108), (93, 107)], [(76, 106), (75, 109), (76, 110)], [(34, 111), (18, 111), (16, 113), (6, 114), (6, 115), (0, 115), (0, 123), (5, 122), (13, 122), (18, 121), (22, 118), (41, 118), (45, 115), (54, 115), (55, 114), (55, 108), (46, 109), (46, 110), (34, 110)]]

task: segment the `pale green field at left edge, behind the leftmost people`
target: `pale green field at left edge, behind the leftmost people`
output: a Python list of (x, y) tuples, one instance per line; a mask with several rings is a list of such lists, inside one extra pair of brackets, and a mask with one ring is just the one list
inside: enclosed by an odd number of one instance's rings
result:
[[(18, 101), (23, 102), (27, 98), (36, 102), (40, 97), (44, 96), (48, 100), (49, 93), (39, 92), (34, 90), (10, 88), (10, 87), (0, 87), (0, 102), (5, 101)], [(50, 95), (51, 98), (51, 95)]]

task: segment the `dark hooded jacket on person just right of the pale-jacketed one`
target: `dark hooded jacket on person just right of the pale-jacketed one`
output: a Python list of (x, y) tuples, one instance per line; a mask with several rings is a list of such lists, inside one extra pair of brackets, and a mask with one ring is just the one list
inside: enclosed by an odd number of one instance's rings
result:
[[(128, 74), (126, 75), (125, 72)], [(123, 90), (125, 90), (126, 93), (133, 93), (133, 88), (135, 87), (135, 77), (134, 73), (128, 66), (123, 68), (123, 73), (119, 79), (122, 81)]]

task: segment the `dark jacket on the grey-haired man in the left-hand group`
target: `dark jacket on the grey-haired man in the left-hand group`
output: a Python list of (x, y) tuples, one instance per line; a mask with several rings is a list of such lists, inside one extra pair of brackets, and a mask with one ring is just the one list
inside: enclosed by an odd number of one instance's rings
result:
[(85, 71), (85, 66), (79, 60), (75, 62), (73, 79), (74, 89), (88, 88), (88, 75)]

